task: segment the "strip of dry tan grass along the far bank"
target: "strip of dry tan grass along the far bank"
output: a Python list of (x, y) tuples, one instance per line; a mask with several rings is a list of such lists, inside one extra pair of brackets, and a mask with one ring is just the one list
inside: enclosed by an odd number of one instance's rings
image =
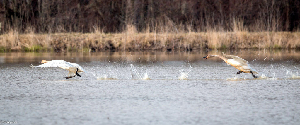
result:
[(11, 30), (0, 35), (0, 51), (135, 51), (193, 49), (299, 49), (300, 32), (179, 32), (138, 33), (134, 26), (127, 31), (105, 34), (100, 28), (94, 33), (26, 34)]

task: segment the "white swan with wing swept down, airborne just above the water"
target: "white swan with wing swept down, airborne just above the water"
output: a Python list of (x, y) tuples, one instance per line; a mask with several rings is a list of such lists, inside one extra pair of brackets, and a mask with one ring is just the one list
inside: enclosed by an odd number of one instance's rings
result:
[(73, 78), (76, 75), (81, 77), (81, 75), (79, 75), (78, 73), (86, 72), (77, 63), (70, 63), (70, 62), (66, 62), (64, 60), (51, 60), (51, 61), (42, 60), (40, 63), (44, 63), (44, 64), (41, 64), (41, 65), (38, 65), (38, 66), (34, 66), (34, 65), (31, 64), (31, 67), (43, 67), (43, 68), (46, 68), (46, 67), (60, 67), (62, 69), (65, 69), (65, 70), (69, 71), (67, 77), (64, 77), (66, 79)]

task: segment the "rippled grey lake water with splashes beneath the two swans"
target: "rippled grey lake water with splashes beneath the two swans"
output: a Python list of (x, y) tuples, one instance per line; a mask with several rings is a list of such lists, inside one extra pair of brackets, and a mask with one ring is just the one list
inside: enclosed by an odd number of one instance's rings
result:
[[(299, 124), (300, 52), (225, 52), (259, 78), (193, 52), (0, 53), (0, 120), (19, 124)], [(78, 63), (65, 79), (42, 59)]]

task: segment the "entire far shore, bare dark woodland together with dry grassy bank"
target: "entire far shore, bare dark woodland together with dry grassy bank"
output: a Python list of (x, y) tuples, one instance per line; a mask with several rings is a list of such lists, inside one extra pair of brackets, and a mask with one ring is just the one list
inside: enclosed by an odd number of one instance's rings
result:
[(8, 51), (300, 48), (298, 0), (0, 0), (0, 23)]

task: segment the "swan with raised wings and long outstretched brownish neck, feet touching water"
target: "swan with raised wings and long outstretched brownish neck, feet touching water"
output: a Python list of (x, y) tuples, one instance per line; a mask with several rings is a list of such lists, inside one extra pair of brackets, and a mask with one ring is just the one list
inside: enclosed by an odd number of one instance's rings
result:
[[(207, 58), (211, 58), (211, 57), (217, 57), (217, 58), (221, 58), (223, 59), (228, 65), (232, 65), (233, 67), (237, 68), (238, 71), (237, 73), (235, 74), (240, 74), (240, 73), (251, 73), (252, 76), (254, 78), (258, 78), (257, 76), (253, 75), (253, 73), (257, 73), (256, 70), (254, 70), (253, 68), (250, 67), (250, 65), (248, 64), (248, 61), (242, 59), (242, 58), (239, 58), (237, 56), (234, 56), (234, 55), (226, 55), (224, 52), (223, 53), (223, 56), (220, 56), (220, 55), (206, 55), (205, 57), (203, 57), (202, 59), (207, 59)], [(228, 58), (225, 58), (225, 57), (229, 57), (229, 58), (232, 58), (232, 59), (228, 59)]]

